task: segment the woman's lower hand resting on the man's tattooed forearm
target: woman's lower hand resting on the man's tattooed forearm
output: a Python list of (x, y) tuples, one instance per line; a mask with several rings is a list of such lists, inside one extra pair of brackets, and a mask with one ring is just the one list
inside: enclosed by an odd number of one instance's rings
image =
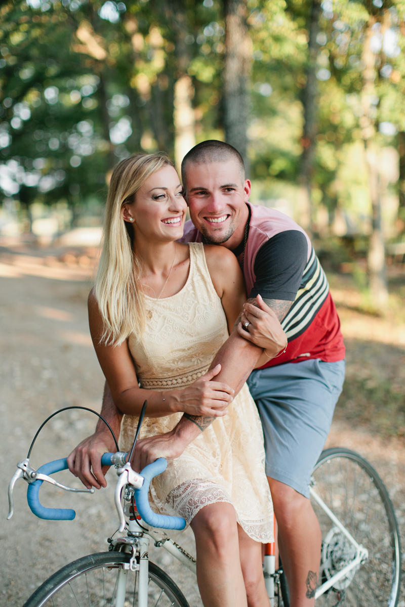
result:
[(221, 370), (221, 365), (207, 371), (188, 388), (173, 390), (177, 400), (175, 408), (189, 415), (204, 417), (222, 417), (234, 398), (234, 390), (227, 384), (212, 381)]

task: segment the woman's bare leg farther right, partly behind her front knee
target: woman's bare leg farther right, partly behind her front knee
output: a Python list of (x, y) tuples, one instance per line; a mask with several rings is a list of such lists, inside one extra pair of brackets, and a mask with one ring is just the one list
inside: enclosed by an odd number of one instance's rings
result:
[(270, 600), (264, 585), (262, 569), (262, 544), (252, 540), (240, 525), (237, 526), (237, 531), (240, 566), (245, 582), (248, 607), (269, 607)]

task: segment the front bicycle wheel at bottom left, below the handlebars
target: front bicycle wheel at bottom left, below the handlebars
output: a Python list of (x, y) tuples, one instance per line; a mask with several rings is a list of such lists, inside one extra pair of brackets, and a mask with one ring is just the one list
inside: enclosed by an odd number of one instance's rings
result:
[[(115, 605), (118, 572), (129, 563), (126, 552), (99, 552), (79, 558), (53, 574), (24, 607), (104, 607)], [(128, 572), (124, 607), (138, 605), (138, 575)], [(154, 563), (149, 562), (148, 607), (189, 607), (182, 591)]]

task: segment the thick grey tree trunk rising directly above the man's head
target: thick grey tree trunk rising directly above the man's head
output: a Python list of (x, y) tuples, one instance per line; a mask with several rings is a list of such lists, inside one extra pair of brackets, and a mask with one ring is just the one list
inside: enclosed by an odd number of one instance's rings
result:
[(251, 41), (246, 23), (246, 0), (224, 0), (225, 64), (223, 67), (223, 125), (225, 141), (242, 155), (248, 172), (247, 127), (251, 72)]

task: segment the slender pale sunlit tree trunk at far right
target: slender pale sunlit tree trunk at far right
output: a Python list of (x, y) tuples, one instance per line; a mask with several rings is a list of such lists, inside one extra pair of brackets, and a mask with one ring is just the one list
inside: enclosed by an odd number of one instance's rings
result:
[(381, 225), (381, 196), (379, 191), (378, 175), (378, 153), (374, 141), (375, 124), (370, 100), (375, 95), (375, 59), (376, 55), (372, 52), (370, 41), (374, 35), (372, 30), (376, 22), (374, 16), (370, 16), (366, 25), (366, 36), (363, 52), (361, 55), (365, 67), (363, 70), (363, 86), (361, 91), (361, 103), (364, 114), (360, 119), (362, 128), (362, 138), (364, 141), (364, 151), (366, 154), (366, 163), (369, 170), (369, 192), (372, 205), (372, 234), (369, 240), (369, 283), (370, 294), (373, 303), (378, 307), (383, 307), (388, 299), (386, 260), (384, 249), (383, 229)]

